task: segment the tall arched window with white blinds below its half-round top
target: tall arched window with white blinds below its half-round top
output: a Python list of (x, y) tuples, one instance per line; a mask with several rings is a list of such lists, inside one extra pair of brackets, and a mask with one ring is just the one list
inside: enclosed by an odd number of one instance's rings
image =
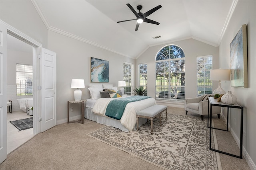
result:
[(185, 55), (177, 45), (167, 45), (156, 55), (156, 99), (185, 99)]

